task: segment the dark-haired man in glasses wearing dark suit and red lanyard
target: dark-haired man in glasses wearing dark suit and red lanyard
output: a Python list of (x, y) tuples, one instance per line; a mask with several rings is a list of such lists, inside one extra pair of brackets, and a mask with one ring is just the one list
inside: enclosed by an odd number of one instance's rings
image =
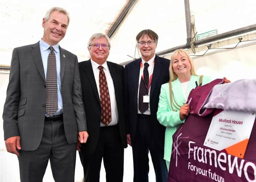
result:
[(150, 29), (136, 37), (141, 58), (125, 66), (127, 142), (132, 147), (134, 182), (148, 182), (150, 151), (156, 182), (167, 181), (164, 132), (156, 117), (161, 84), (169, 81), (170, 60), (155, 55), (158, 35)]

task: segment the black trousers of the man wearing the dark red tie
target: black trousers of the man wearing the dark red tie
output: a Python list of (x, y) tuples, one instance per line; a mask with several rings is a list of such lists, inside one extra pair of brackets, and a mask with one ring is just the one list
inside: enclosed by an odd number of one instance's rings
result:
[(84, 182), (99, 182), (101, 161), (106, 171), (106, 182), (122, 182), (124, 172), (124, 148), (121, 144), (118, 125), (101, 127), (95, 151), (86, 154), (82, 144), (79, 152), (83, 165)]

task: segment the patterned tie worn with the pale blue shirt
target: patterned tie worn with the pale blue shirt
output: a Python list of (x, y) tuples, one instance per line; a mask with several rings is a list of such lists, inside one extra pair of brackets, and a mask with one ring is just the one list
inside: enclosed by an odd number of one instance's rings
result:
[(54, 48), (48, 55), (47, 73), (46, 73), (46, 113), (53, 116), (58, 110), (58, 95), (57, 95), (57, 71), (56, 71), (56, 57)]

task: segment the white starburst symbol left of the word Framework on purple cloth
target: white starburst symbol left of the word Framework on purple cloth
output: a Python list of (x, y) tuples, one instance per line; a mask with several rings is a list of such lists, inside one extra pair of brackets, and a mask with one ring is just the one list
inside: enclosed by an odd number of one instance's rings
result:
[(172, 156), (174, 159), (176, 158), (175, 166), (178, 166), (178, 156), (180, 156), (178, 147), (180, 144), (182, 144), (182, 141), (179, 141), (179, 139), (189, 139), (189, 136), (180, 137), (182, 136), (182, 133), (180, 132), (182, 130), (182, 126), (179, 127), (179, 129), (176, 131), (176, 133), (173, 135), (173, 151)]

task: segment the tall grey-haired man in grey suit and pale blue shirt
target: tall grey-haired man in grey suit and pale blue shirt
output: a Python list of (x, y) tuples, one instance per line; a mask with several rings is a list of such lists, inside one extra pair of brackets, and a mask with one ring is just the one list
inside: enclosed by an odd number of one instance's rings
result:
[(88, 138), (77, 56), (58, 44), (68, 23), (65, 9), (51, 8), (42, 39), (13, 50), (3, 130), (21, 182), (42, 182), (49, 159), (55, 181), (74, 181), (77, 138)]

